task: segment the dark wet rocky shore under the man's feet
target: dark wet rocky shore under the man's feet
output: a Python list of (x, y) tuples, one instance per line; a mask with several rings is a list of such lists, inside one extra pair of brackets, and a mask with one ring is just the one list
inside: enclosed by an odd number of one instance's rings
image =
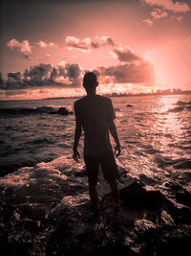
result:
[[(189, 255), (190, 193), (178, 183), (168, 183), (169, 197), (126, 170), (119, 172), (124, 184), (119, 184), (122, 204), (117, 209), (100, 175), (100, 219), (91, 214), (88, 188), (80, 182), (54, 176), (55, 186), (46, 190), (41, 182), (32, 207), (22, 198), (26, 186), (1, 186), (2, 255)], [(76, 179), (85, 175), (74, 172)]]

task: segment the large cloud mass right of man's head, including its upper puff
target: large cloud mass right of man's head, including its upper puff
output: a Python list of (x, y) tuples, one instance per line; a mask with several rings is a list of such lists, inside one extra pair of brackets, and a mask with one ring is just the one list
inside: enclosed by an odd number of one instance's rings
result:
[(101, 83), (137, 83), (151, 86), (154, 84), (154, 66), (138, 56), (131, 46), (119, 46), (110, 51), (117, 64), (96, 68)]

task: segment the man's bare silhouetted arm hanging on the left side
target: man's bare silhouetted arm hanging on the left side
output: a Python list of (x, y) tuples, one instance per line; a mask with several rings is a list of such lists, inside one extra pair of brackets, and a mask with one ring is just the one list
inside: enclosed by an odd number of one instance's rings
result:
[(74, 130), (74, 147), (73, 147), (73, 158), (75, 161), (78, 161), (80, 158), (79, 152), (77, 151), (78, 142), (81, 136), (82, 128), (81, 121), (78, 112), (76, 111), (76, 107), (74, 105), (74, 114), (75, 114), (75, 130)]

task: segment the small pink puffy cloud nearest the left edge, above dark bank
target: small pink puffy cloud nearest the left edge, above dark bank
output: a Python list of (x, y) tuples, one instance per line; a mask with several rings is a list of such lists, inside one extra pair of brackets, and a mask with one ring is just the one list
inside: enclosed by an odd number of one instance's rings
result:
[(10, 47), (11, 50), (13, 50), (14, 48), (18, 48), (25, 56), (29, 56), (32, 54), (32, 46), (30, 45), (28, 40), (23, 40), (19, 42), (16, 39), (11, 39), (7, 43), (7, 46)]

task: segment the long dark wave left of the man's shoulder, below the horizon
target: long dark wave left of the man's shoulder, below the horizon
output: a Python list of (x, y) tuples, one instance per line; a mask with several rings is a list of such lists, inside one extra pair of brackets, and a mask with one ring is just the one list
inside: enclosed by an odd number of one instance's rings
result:
[[(63, 111), (60, 111), (64, 110)], [(15, 108), (0, 108), (0, 116), (26, 116), (26, 115), (35, 115), (35, 114), (73, 114), (73, 112), (67, 107), (53, 107), (53, 106), (40, 106), (40, 107), (15, 107)]]

